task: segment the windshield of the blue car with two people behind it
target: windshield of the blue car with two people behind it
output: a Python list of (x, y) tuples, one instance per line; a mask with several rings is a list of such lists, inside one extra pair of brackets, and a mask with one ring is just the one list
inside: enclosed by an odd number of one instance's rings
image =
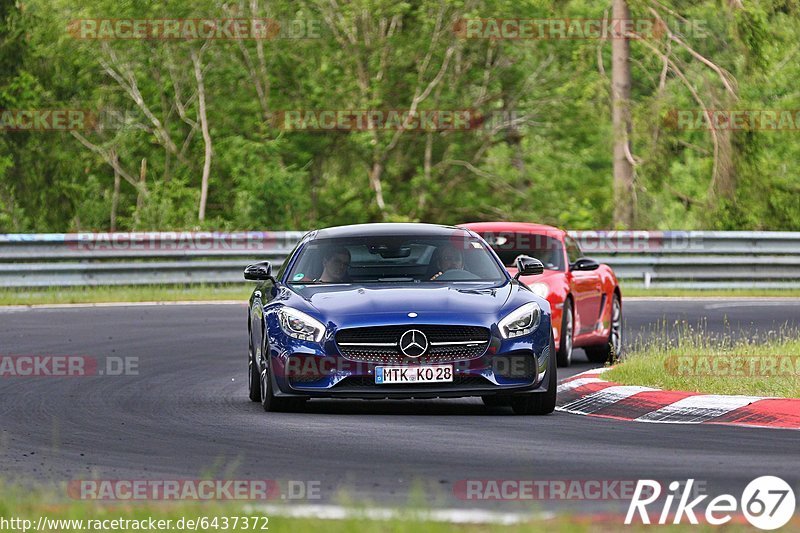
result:
[(288, 283), (441, 283), (507, 279), (489, 249), (469, 236), (317, 239), (300, 251)]

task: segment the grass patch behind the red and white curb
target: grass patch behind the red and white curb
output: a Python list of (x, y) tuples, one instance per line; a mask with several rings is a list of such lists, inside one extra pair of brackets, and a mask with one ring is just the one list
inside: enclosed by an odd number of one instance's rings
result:
[(667, 390), (800, 398), (800, 338), (781, 331), (733, 341), (684, 332), (634, 349), (604, 379)]

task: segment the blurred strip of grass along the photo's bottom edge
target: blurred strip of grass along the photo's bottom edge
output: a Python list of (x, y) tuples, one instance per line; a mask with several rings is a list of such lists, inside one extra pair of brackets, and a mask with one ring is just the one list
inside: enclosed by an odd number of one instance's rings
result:
[[(0, 531), (77, 533), (85, 531), (271, 531), (287, 533), (503, 533), (557, 532), (583, 533), (618, 531), (624, 517), (619, 514), (558, 514), (532, 518), (513, 525), (496, 523), (459, 524), (431, 520), (425, 511), (399, 510), (391, 516), (369, 518), (382, 513), (368, 506), (355, 508), (355, 516), (342, 519), (296, 517), (290, 505), (280, 511), (261, 512), (240, 502), (137, 502), (103, 503), (68, 500), (56, 491), (19, 488), (0, 483)], [(503, 516), (501, 513), (495, 515)], [(752, 531), (743, 519), (734, 519), (725, 531)], [(191, 522), (189, 522), (191, 521)], [(135, 522), (135, 523), (134, 523)], [(795, 520), (793, 524), (797, 524)], [(652, 526), (634, 523), (627, 531), (650, 531)], [(669, 531), (718, 531), (716, 526), (682, 524), (663, 526)], [(791, 527), (791, 525), (787, 525)]]

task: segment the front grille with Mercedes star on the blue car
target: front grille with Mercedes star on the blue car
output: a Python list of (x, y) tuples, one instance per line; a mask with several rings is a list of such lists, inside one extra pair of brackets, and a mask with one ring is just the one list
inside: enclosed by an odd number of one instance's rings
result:
[[(406, 357), (400, 351), (400, 337), (410, 329), (423, 332), (430, 343), (421, 357)], [(378, 326), (343, 329), (336, 334), (339, 351), (347, 359), (377, 364), (451, 363), (475, 359), (486, 352), (489, 340), (489, 330), (479, 326)], [(438, 344), (466, 342), (470, 343)]]

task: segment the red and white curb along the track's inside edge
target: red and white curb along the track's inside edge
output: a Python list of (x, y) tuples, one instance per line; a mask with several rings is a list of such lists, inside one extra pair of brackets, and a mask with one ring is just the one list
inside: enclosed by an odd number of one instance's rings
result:
[(800, 399), (619, 385), (602, 379), (606, 370), (589, 370), (563, 380), (556, 410), (634, 422), (800, 429)]

